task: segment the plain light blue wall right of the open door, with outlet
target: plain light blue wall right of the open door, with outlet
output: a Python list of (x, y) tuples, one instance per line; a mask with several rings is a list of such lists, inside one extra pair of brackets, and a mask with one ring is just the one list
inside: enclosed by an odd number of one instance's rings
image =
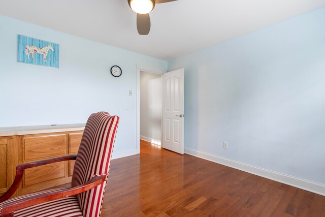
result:
[(325, 184), (324, 23), (322, 7), (169, 61), (185, 148)]

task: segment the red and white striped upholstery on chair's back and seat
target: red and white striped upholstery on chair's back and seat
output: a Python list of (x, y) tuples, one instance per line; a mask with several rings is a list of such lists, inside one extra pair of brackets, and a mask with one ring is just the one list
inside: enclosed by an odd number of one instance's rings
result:
[[(111, 116), (107, 112), (98, 112), (90, 115), (77, 154), (72, 177), (72, 187), (84, 184), (92, 177), (98, 175), (106, 175), (106, 181), (97, 187), (82, 192), (76, 196), (62, 198), (17, 210), (15, 211), (14, 216), (100, 216), (118, 122), (118, 116)], [(44, 192), (55, 192), (62, 189), (64, 188), (23, 195), (6, 200), (0, 203), (0, 216), (1, 207), (5, 203), (10, 203), (30, 195), (38, 195)]]

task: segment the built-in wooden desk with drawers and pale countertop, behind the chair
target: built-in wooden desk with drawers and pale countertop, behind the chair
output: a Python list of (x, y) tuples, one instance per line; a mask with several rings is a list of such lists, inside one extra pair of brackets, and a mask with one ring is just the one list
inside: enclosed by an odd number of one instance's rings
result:
[[(16, 165), (76, 154), (84, 123), (0, 128), (0, 195), (12, 184)], [(74, 162), (58, 162), (26, 169), (14, 196), (71, 182)]]

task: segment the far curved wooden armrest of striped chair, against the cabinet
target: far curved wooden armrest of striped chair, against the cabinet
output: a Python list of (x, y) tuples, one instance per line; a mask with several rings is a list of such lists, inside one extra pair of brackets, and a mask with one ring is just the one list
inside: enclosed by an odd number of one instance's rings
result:
[(77, 154), (70, 154), (66, 156), (60, 156), (56, 158), (50, 158), (42, 161), (36, 161), (26, 164), (19, 164), (16, 167), (16, 176), (14, 179), (14, 182), (12, 183), (11, 187), (8, 189), (8, 191), (0, 197), (0, 202), (3, 202), (5, 200), (8, 200), (18, 189), (19, 184), (21, 182), (22, 176), (24, 174), (24, 169), (32, 168), (32, 167), (39, 167), (46, 164), (52, 164), (60, 161), (69, 161), (69, 160), (76, 160)]

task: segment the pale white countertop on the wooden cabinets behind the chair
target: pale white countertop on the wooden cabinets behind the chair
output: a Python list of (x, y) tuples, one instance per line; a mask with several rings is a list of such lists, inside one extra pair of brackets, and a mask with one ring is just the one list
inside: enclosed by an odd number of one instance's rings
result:
[(42, 125), (25, 127), (0, 128), (0, 136), (18, 136), (39, 133), (56, 133), (64, 131), (79, 131), (85, 129), (85, 123), (73, 123), (69, 125)]

